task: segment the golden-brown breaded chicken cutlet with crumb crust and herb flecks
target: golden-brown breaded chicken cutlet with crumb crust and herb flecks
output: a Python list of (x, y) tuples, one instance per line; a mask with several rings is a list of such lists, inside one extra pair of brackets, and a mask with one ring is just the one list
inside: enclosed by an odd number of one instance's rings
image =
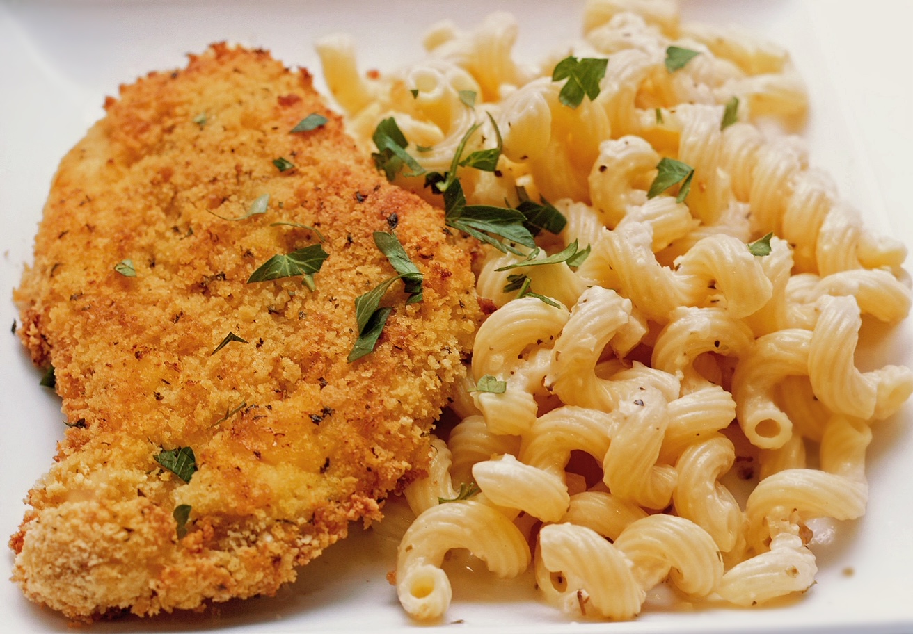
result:
[[(273, 594), (426, 466), (477, 327), (469, 255), (265, 51), (215, 45), (105, 109), (15, 293), (68, 430), (13, 578), (75, 619)], [(396, 275), (373, 232), (404, 245), (423, 300), (391, 286), (376, 349), (349, 362), (355, 298)], [(314, 244), (310, 280), (248, 281)]]

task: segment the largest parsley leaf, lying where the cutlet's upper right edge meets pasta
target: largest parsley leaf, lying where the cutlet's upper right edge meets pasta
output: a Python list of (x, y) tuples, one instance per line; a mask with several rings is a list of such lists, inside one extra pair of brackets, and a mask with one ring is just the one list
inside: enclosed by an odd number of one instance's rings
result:
[[(459, 181), (444, 192), (444, 222), (447, 226), (466, 232), (481, 242), (493, 245), (501, 252), (519, 254), (517, 249), (488, 234), (498, 235), (509, 242), (534, 248), (536, 243), (530, 231), (523, 226), (526, 216), (516, 209), (494, 207), (486, 204), (467, 205), (466, 195)], [(523, 254), (519, 254), (523, 255)]]

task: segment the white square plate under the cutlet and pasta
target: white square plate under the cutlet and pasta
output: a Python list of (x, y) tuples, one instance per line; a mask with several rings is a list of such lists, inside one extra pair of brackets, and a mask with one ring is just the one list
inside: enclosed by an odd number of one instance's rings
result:
[[(362, 69), (395, 68), (421, 55), (420, 36), (450, 17), (469, 27), (495, 9), (518, 17), (518, 57), (580, 32), (582, 1), (295, 2), (248, 0), (0, 0), (0, 219), (3, 293), (0, 323), (17, 318), (8, 293), (31, 260), (33, 237), (51, 176), (63, 154), (103, 114), (105, 95), (152, 69), (184, 66), (184, 54), (227, 40), (264, 47), (289, 66), (320, 77), (317, 37), (357, 37)], [(841, 194), (866, 223), (913, 244), (908, 182), (913, 174), (913, 72), (908, 66), (910, 5), (892, 2), (694, 0), (687, 19), (740, 23), (791, 50), (811, 94), (805, 136), (814, 165), (831, 171)], [(322, 82), (318, 80), (319, 88)], [(4, 322), (5, 319), (5, 322)], [(913, 326), (887, 330), (858, 356), (861, 366), (913, 365)], [(59, 402), (38, 386), (37, 369), (12, 335), (0, 338), (0, 534), (22, 519), (22, 498), (47, 471), (62, 437)], [(913, 631), (913, 408), (878, 423), (868, 452), (871, 498), (857, 522), (816, 548), (818, 584), (771, 608), (646, 610), (632, 623), (572, 623), (536, 600), (530, 578), (515, 583), (460, 577), (442, 627), (522, 632), (904, 632)], [(92, 631), (232, 629), (233, 631), (392, 631), (414, 629), (384, 574), (393, 551), (358, 526), (353, 535), (301, 570), (276, 598), (233, 602), (204, 615), (126, 618)], [(0, 614), (10, 631), (67, 630), (64, 618), (37, 608), (6, 581), (10, 551), (0, 555)], [(451, 628), (457, 627), (451, 625)]]

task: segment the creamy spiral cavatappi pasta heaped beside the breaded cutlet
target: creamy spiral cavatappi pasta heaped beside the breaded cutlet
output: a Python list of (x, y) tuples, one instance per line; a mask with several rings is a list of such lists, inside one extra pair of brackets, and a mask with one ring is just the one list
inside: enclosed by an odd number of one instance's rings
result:
[[(905, 247), (866, 230), (802, 140), (755, 125), (807, 108), (780, 47), (683, 23), (666, 0), (589, 0), (582, 41), (538, 67), (512, 57), (517, 28), (502, 13), (439, 24), (424, 60), (379, 78), (358, 73), (344, 36), (319, 46), (366, 150), (390, 117), (425, 171), (499, 138), (495, 171), (456, 169), (467, 203), (550, 201), (566, 223), (532, 259), (590, 249), (506, 269), (530, 249), (482, 247), (477, 291), (497, 310), (457, 386), (460, 421), (406, 491), (403, 607), (446, 611), (450, 548), (499, 576), (531, 566), (543, 598), (597, 618), (635, 617), (666, 580), (739, 606), (803, 592), (808, 523), (864, 513), (871, 423), (913, 392), (909, 369), (854, 359), (863, 316), (908, 314)], [(694, 55), (672, 69), (670, 47)], [(569, 53), (609, 60), (577, 107), (551, 78)], [(665, 159), (693, 169), (689, 191), (648, 193)], [(409, 170), (394, 182), (442, 204)], [(518, 272), (535, 293), (519, 296)], [(483, 378), (503, 390), (476, 390)], [(741, 502), (723, 483), (738, 461), (753, 471)], [(469, 482), (479, 493), (457, 499)]]

